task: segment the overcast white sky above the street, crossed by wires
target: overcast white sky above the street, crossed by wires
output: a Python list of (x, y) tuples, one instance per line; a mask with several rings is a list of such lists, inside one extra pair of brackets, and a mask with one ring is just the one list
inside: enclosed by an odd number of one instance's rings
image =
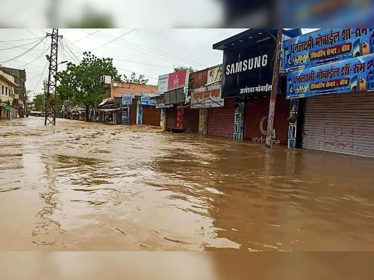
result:
[[(82, 50), (89, 51), (97, 48), (93, 50), (93, 53), (100, 57), (112, 57), (119, 74), (127, 76), (131, 72), (144, 74), (149, 79), (149, 84), (157, 84), (158, 76), (173, 72), (174, 65), (193, 66), (201, 70), (222, 63), (222, 51), (212, 49), (212, 45), (244, 30), (59, 29), (59, 34), (63, 36), (63, 39), (59, 46), (58, 61), (68, 60), (77, 63), (76, 59), (82, 57)], [(48, 48), (51, 39), (47, 38), (15, 60), (2, 61), (18, 56), (38, 43), (38, 39), (10, 40), (43, 37), (46, 32), (52, 32), (52, 30), (0, 29), (0, 64), (11, 68), (26, 69), (26, 88), (33, 90), (34, 93), (42, 91), (43, 79), (48, 76), (45, 54), (50, 53)], [(126, 33), (128, 34), (124, 35)], [(117, 37), (120, 38), (112, 41)], [(106, 43), (108, 44), (103, 46)], [(25, 44), (29, 45), (13, 48)], [(61, 64), (58, 70), (63, 70), (65, 67)]]

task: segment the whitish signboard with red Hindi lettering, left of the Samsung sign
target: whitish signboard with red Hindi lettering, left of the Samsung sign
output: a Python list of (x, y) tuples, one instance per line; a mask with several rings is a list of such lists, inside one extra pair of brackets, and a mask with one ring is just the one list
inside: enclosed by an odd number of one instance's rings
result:
[(191, 90), (191, 108), (223, 107), (223, 102), (220, 85)]

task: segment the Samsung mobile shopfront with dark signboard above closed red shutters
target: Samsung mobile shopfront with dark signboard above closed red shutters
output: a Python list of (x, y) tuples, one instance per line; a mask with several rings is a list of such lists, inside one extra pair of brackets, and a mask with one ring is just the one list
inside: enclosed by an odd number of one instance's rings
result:
[[(214, 44), (223, 50), (224, 106), (209, 109), (208, 134), (265, 143), (276, 38), (276, 29), (250, 29)], [(286, 145), (290, 101), (277, 93), (273, 143)]]

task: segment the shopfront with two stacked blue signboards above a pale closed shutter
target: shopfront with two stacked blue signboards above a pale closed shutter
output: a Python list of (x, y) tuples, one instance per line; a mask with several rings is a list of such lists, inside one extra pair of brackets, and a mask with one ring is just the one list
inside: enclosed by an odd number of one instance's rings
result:
[[(369, 28), (322, 29), (286, 42), (294, 50), (288, 53), (287, 98), (296, 116), (289, 147), (374, 157), (373, 35)], [(303, 42), (310, 43), (299, 49)], [(309, 59), (314, 53), (317, 61)], [(308, 59), (293, 58), (300, 55)]]

